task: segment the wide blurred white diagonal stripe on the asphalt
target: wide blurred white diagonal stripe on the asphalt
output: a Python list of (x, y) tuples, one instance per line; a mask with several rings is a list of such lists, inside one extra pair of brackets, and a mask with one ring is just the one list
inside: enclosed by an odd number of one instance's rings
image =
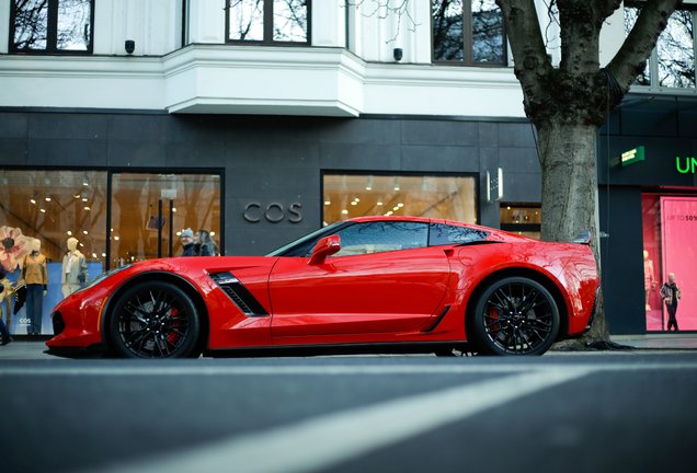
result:
[(319, 416), (187, 452), (168, 452), (149, 460), (89, 472), (191, 473), (232, 469), (245, 473), (296, 473), (329, 469), (591, 372), (593, 370), (585, 368), (557, 367), (511, 374)]

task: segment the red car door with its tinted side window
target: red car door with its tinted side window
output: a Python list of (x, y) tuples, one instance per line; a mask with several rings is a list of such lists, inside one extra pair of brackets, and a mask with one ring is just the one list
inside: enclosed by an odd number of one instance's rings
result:
[(449, 264), (427, 246), (427, 223), (361, 222), (338, 231), (324, 263), (281, 257), (271, 272), (272, 336), (404, 332), (433, 315)]

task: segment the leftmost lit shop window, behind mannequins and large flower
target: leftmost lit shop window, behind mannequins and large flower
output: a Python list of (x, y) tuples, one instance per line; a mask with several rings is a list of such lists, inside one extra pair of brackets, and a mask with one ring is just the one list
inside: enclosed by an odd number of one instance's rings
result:
[[(16, 282), (24, 258), (38, 240), (46, 257), (48, 281), (43, 297), (39, 333), (53, 333), (50, 311), (64, 299), (62, 264), (68, 240), (84, 256), (88, 276), (105, 269), (106, 258), (106, 172), (9, 171), (0, 170), (0, 264)], [(31, 332), (26, 307), (13, 315), (14, 298), (2, 301), (10, 332)]]

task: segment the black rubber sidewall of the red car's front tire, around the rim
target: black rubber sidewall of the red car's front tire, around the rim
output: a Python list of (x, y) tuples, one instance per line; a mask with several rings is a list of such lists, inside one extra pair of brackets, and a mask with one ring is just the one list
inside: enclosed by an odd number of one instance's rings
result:
[[(124, 293), (119, 295), (116, 303), (114, 305), (114, 310), (111, 312), (110, 321), (108, 321), (108, 336), (112, 342), (112, 346), (114, 347), (115, 353), (119, 357), (126, 358), (141, 358), (137, 354), (133, 353), (128, 349), (122, 338), (121, 333), (118, 331), (118, 314), (122, 312), (124, 304), (136, 293), (148, 291), (148, 290), (164, 290), (173, 296), (175, 296), (180, 302), (185, 307), (186, 313), (188, 314), (188, 324), (190, 328), (186, 334), (186, 341), (178, 347), (174, 351), (172, 351), (169, 356), (164, 358), (185, 358), (191, 356), (196, 348), (199, 332), (201, 332), (201, 323), (198, 319), (198, 312), (196, 311), (196, 307), (191, 300), (191, 298), (179, 287), (164, 281), (147, 281), (135, 285), (134, 287), (127, 289)], [(146, 357), (150, 358), (150, 357)], [(155, 357), (155, 358), (163, 358), (163, 357)]]

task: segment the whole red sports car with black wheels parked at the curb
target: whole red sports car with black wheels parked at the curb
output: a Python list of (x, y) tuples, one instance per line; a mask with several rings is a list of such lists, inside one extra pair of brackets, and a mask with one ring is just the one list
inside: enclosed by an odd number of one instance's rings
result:
[(266, 256), (105, 273), (56, 305), (50, 354), (541, 355), (581, 335), (599, 278), (590, 234), (545, 243), (426, 218), (341, 221)]

